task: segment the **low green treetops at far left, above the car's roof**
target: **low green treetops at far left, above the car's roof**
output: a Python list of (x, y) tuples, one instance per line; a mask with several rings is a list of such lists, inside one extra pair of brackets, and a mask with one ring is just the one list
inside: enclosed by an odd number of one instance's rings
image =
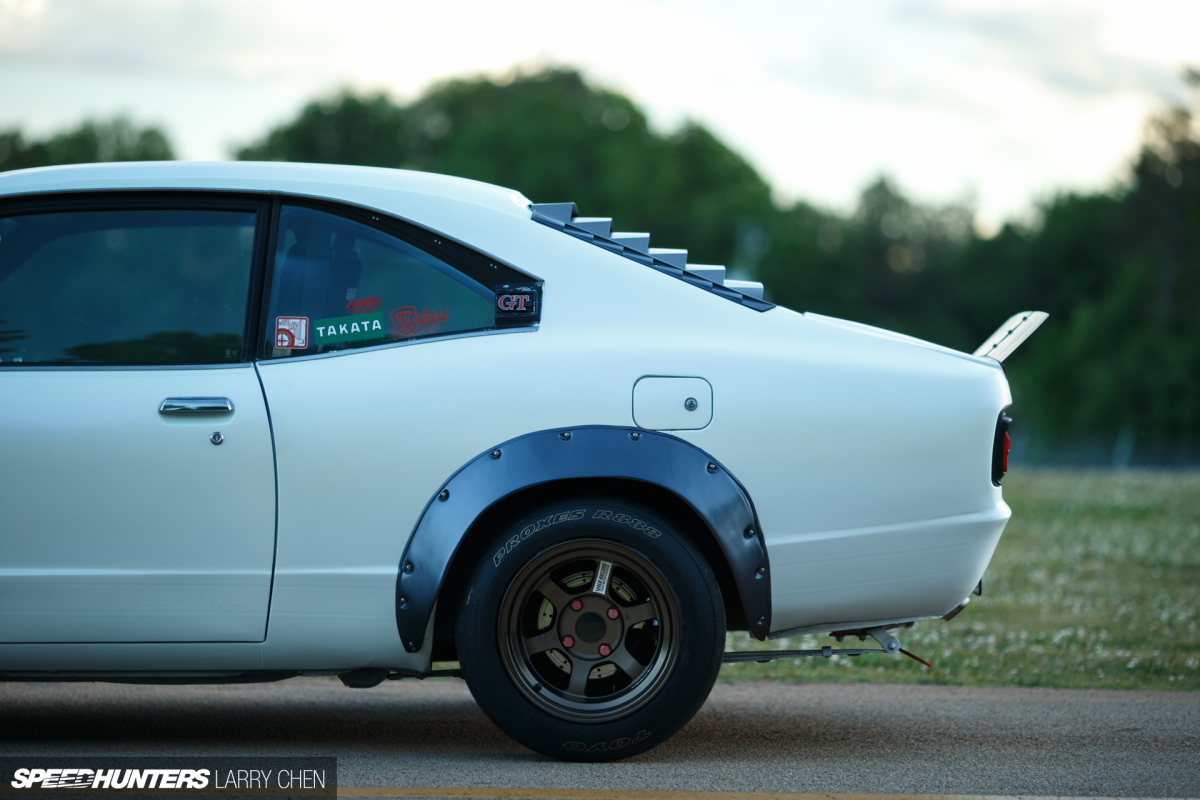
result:
[(0, 131), (0, 172), (96, 161), (169, 161), (174, 152), (156, 127), (136, 127), (124, 116), (85, 121), (46, 139), (26, 142), (19, 130)]

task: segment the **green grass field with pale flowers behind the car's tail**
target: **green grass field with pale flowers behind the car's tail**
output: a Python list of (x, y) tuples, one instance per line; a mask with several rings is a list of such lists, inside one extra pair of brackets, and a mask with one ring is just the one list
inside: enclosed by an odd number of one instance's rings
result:
[[(898, 632), (932, 669), (865, 655), (726, 664), (721, 680), (1200, 690), (1200, 473), (1019, 470), (1004, 499), (1013, 518), (983, 597)], [(824, 634), (728, 639), (839, 646)]]

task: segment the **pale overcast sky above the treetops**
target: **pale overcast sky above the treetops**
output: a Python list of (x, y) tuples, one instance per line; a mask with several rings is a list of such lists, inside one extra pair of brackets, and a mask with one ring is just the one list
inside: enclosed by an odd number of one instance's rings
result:
[(0, 0), (0, 128), (124, 113), (226, 158), (340, 86), (568, 65), (707, 125), (784, 201), (848, 210), (886, 174), (988, 229), (1121, 178), (1198, 31), (1192, 0)]

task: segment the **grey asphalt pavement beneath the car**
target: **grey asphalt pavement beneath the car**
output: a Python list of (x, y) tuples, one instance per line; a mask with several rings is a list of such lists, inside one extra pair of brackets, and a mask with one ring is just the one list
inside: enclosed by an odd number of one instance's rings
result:
[(1200, 692), (719, 685), (666, 745), (564, 764), (457, 680), (0, 684), (4, 756), (336, 756), (342, 786), (1200, 798)]

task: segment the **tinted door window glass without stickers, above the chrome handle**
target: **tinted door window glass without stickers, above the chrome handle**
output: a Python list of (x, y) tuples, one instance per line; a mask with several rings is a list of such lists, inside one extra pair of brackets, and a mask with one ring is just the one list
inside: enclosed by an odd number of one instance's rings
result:
[(254, 211), (0, 215), (0, 366), (241, 359)]

